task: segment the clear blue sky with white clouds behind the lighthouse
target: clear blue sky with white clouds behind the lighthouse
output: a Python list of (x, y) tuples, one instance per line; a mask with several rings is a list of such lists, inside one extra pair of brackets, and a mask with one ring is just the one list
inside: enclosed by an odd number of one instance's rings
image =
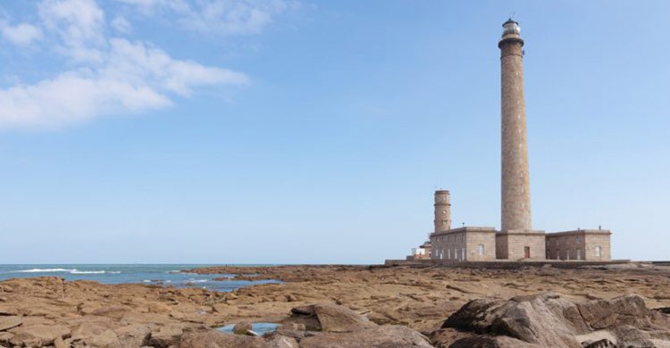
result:
[(0, 263), (380, 263), (500, 228), (501, 25), (533, 228), (670, 260), (666, 1), (0, 3)]

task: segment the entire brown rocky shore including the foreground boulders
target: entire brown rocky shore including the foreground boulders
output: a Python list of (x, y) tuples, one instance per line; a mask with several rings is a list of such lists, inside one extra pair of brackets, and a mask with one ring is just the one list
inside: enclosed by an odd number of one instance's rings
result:
[[(0, 347), (670, 347), (670, 267), (217, 267), (232, 293), (0, 282)], [(246, 323), (281, 324), (253, 336)], [(214, 329), (239, 324), (244, 335)], [(252, 336), (247, 336), (252, 335)]]

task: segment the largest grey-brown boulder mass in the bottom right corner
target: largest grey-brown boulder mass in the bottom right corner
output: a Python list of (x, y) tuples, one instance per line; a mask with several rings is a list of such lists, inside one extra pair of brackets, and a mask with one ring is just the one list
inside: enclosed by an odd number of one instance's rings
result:
[[(670, 346), (670, 322), (649, 311), (638, 295), (570, 302), (557, 294), (508, 301), (474, 300), (442, 325), (470, 336), (433, 335), (440, 347), (531, 346), (556, 348)], [(440, 338), (453, 337), (448, 342)], [(516, 343), (515, 343), (516, 341)]]

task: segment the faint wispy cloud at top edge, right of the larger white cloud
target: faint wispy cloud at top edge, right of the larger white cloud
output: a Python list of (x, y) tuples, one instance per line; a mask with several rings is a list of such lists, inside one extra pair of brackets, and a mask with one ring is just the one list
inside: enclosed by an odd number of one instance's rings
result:
[(171, 12), (186, 29), (207, 34), (257, 34), (281, 12), (297, 4), (288, 0), (116, 0), (141, 12)]

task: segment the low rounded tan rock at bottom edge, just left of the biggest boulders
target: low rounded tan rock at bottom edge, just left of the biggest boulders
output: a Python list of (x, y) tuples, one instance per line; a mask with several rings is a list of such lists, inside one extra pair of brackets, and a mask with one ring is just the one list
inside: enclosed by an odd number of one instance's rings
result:
[(349, 333), (324, 333), (305, 337), (300, 348), (410, 348), (433, 347), (428, 338), (409, 327), (386, 325)]

